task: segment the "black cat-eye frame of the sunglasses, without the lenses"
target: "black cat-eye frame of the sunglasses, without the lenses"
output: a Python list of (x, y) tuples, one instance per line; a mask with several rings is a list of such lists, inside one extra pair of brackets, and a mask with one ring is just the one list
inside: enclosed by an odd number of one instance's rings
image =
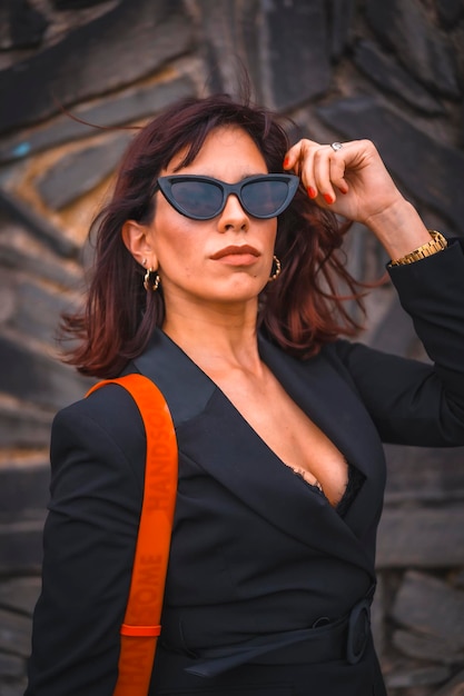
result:
[[(285, 201), (277, 208), (275, 212), (272, 215), (255, 215), (250, 210), (248, 210), (247, 206), (244, 203), (241, 199), (241, 190), (249, 183), (257, 181), (285, 181), (287, 183), (287, 196)], [(214, 215), (207, 216), (191, 216), (187, 210), (185, 210), (174, 198), (172, 196), (172, 183), (176, 181), (204, 181), (205, 183), (213, 183), (223, 192), (223, 202), (220, 203), (219, 209)], [(237, 183), (227, 183), (226, 181), (220, 181), (220, 179), (215, 179), (213, 177), (198, 176), (198, 175), (170, 175), (167, 177), (159, 177), (155, 191), (158, 189), (161, 191), (162, 196), (166, 198), (168, 203), (172, 206), (177, 212), (189, 218), (190, 220), (213, 220), (218, 215), (220, 215), (226, 207), (227, 200), (231, 193), (237, 196), (240, 201), (240, 206), (243, 209), (254, 218), (259, 220), (269, 220), (270, 218), (275, 218), (289, 206), (292, 202), (296, 190), (299, 185), (299, 177), (289, 173), (268, 173), (268, 175), (255, 175), (253, 177), (247, 177), (246, 179), (241, 179)]]

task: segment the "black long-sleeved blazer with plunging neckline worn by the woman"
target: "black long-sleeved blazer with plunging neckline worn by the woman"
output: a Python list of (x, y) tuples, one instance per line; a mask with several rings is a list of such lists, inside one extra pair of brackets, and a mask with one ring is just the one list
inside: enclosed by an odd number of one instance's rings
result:
[[(264, 338), (259, 342), (263, 360), (290, 397), (362, 473), (361, 490), (343, 518), (162, 331), (128, 366), (164, 391), (179, 446), (157, 694), (228, 694), (224, 684), (231, 676), (207, 683), (181, 666), (201, 662), (215, 646), (349, 612), (375, 583), (382, 441), (464, 444), (462, 245), (394, 268), (392, 277), (434, 366), (348, 341), (300, 361)], [(127, 392), (108, 386), (58, 414), (51, 463), (43, 590), (26, 694), (109, 696), (144, 484), (144, 427)], [(382, 694), (369, 655), (357, 672), (340, 662), (316, 665), (305, 673), (306, 686), (317, 683), (325, 696)], [(177, 663), (169, 662), (172, 656)], [(234, 678), (238, 690), (231, 693), (261, 693), (247, 690), (245, 676)], [(284, 684), (280, 675), (280, 686), (265, 693), (289, 694), (292, 678)]]

